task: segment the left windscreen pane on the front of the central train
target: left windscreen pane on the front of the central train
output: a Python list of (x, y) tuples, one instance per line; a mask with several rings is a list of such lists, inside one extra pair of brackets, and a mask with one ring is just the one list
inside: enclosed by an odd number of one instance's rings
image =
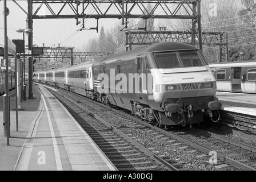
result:
[(155, 53), (158, 68), (181, 68), (176, 53)]

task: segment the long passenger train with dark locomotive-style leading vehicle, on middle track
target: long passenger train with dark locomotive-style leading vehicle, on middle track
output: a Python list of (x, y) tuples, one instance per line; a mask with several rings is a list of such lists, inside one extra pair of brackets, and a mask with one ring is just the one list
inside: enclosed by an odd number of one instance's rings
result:
[(162, 42), (94, 63), (34, 73), (42, 82), (130, 110), (154, 126), (219, 119), (216, 80), (200, 49)]

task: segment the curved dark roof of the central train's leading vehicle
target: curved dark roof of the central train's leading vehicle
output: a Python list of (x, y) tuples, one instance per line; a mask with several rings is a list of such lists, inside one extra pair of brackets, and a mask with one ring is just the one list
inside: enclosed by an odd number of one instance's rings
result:
[(106, 57), (105, 59), (95, 61), (94, 65), (104, 64), (108, 61), (117, 61), (121, 60), (125, 57), (125, 60), (129, 60), (130, 58), (134, 58), (136, 55), (140, 55), (146, 52), (164, 52), (164, 51), (183, 51), (183, 50), (197, 50), (197, 47), (191, 46), (186, 43), (180, 42), (159, 42), (155, 44), (151, 44), (150, 46), (140, 47), (133, 49), (131, 51), (126, 51), (122, 53), (118, 53), (113, 56)]

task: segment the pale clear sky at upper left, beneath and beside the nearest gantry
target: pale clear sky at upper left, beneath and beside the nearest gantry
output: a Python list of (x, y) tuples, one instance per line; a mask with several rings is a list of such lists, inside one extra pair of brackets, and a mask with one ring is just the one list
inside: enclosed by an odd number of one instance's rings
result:
[[(27, 1), (16, 0), (18, 4), (27, 11)], [(26, 28), (27, 15), (19, 8), (13, 1), (7, 1), (7, 7), (10, 14), (7, 16), (7, 36), (10, 39), (23, 39), (23, 34), (15, 30), (17, 28)], [(37, 5), (33, 5), (33, 11)], [(3, 1), (0, 1), (0, 44), (3, 42)], [(63, 11), (66, 13), (68, 11)], [(99, 19), (99, 30), (104, 26), (105, 31), (110, 30), (120, 20), (114, 19)], [(76, 25), (75, 19), (33, 19), (33, 44), (42, 47), (56, 47), (61, 44), (61, 47), (75, 47), (78, 49), (83, 48), (83, 45), (89, 41), (90, 38), (97, 38), (99, 33), (96, 30), (83, 30), (78, 31), (79, 25)], [(97, 20), (87, 19), (85, 28), (96, 27)], [(71, 36), (75, 34), (75, 36)], [(71, 39), (70, 39), (71, 36)], [(27, 45), (28, 36), (25, 34), (25, 45)]]

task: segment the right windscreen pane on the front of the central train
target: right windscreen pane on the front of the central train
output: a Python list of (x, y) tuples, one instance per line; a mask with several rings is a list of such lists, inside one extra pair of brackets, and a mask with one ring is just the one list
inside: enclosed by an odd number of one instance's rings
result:
[(181, 61), (184, 67), (198, 67), (203, 66), (203, 62), (198, 56), (197, 52), (181, 52)]

